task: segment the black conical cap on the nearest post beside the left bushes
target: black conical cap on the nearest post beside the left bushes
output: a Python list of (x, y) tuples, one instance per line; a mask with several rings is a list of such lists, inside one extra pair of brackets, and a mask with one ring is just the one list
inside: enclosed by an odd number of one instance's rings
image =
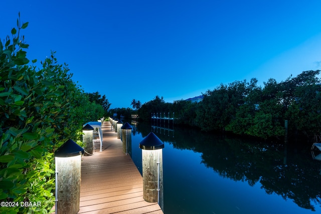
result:
[(55, 151), (55, 157), (73, 157), (83, 153), (84, 149), (69, 139)]

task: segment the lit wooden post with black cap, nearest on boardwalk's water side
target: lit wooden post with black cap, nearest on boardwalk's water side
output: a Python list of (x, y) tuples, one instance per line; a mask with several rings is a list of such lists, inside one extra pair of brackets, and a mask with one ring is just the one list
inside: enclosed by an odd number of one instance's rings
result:
[(147, 202), (158, 202), (164, 207), (163, 200), (163, 148), (164, 143), (150, 132), (140, 143), (142, 149), (143, 198)]

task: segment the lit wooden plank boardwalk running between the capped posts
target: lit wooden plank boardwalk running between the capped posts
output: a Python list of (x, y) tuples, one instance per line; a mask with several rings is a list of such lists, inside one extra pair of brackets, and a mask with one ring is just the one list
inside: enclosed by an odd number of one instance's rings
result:
[(105, 121), (103, 151), (99, 152), (99, 143), (95, 143), (95, 154), (82, 157), (78, 213), (163, 213), (157, 203), (143, 199), (142, 177), (110, 128)]

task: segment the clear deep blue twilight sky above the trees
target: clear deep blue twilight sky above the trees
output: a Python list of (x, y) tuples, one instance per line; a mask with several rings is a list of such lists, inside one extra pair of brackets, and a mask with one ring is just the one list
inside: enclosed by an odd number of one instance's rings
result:
[(321, 69), (320, 0), (0, 0), (0, 8), (2, 41), (20, 12), (27, 57), (56, 51), (111, 108)]

